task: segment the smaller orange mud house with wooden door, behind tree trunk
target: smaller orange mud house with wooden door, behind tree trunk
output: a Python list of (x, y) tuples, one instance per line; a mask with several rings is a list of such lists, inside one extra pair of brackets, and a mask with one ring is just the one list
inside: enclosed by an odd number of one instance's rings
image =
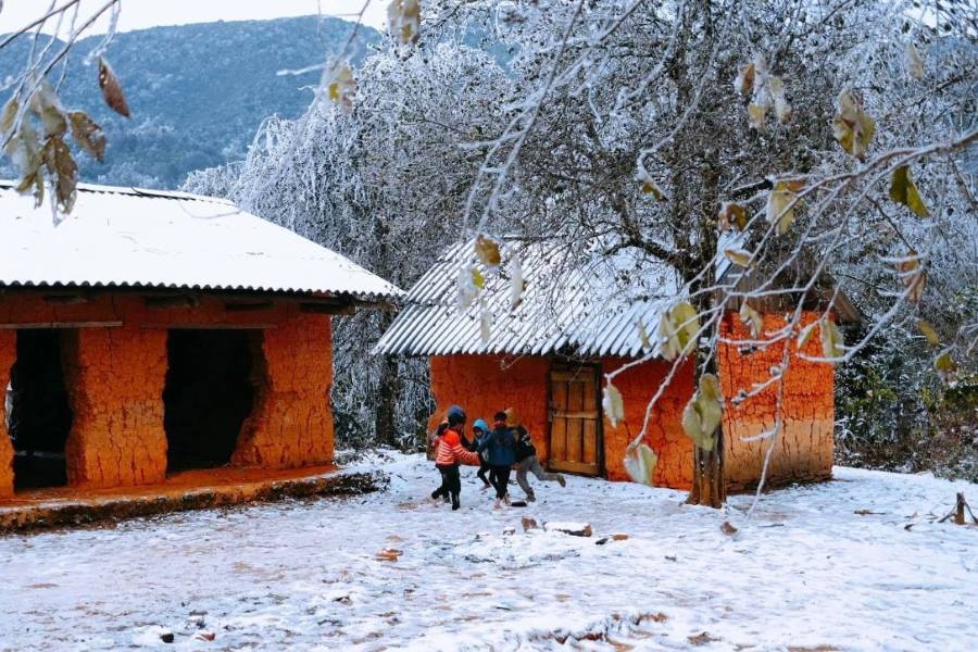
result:
[[(525, 281), (522, 301), (512, 310), (514, 269), (507, 266), (507, 255), (521, 260)], [(376, 352), (429, 358), (437, 404), (431, 425), (452, 403), (462, 404), (469, 419), (513, 408), (550, 468), (625, 480), (625, 448), (641, 431), (647, 405), (672, 367), (643, 346), (638, 324), (654, 337), (679, 284), (662, 263), (644, 261), (639, 269), (638, 260), (619, 254), (570, 267), (566, 258), (565, 251), (546, 242), (507, 240), (499, 272), (477, 265), (486, 279), (481, 301), (492, 315), (484, 341), (479, 301), (460, 311), (460, 274), (464, 280), (474, 255), (472, 242), (459, 244), (412, 288)], [(817, 316), (810, 312), (805, 319)], [(764, 322), (766, 331), (783, 323), (777, 314), (764, 315)], [(723, 317), (724, 338), (748, 339), (745, 335), (736, 313)], [(805, 352), (818, 355), (818, 346), (811, 341)], [(768, 380), (781, 355), (780, 343), (751, 350), (719, 346), (719, 377), (727, 397), (726, 474), (732, 490), (756, 485), (761, 476), (767, 443), (744, 438), (774, 426), (776, 396), (772, 387), (737, 405), (729, 397)], [(643, 358), (648, 360), (638, 362)], [(625, 403), (625, 419), (614, 427), (602, 414), (601, 379), (627, 364), (634, 366), (614, 381)], [(831, 475), (833, 390), (831, 365), (792, 354), (785, 376), (785, 428), (768, 472), (773, 484)], [(682, 431), (681, 415), (692, 392), (693, 367), (684, 363), (649, 421), (645, 441), (659, 454), (653, 475), (657, 486), (690, 485), (692, 443)]]

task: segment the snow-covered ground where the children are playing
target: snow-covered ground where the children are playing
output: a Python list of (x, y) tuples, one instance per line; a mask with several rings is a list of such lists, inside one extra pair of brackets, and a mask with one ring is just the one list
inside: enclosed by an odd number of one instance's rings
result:
[[(717, 512), (576, 477), (493, 512), (466, 468), (453, 513), (426, 499), (430, 463), (373, 466), (391, 474), (389, 491), (2, 538), (0, 649), (948, 651), (978, 640), (978, 527), (933, 522), (955, 491), (978, 502), (976, 485), (837, 468), (832, 482), (763, 497), (745, 522), (750, 497)], [(524, 532), (523, 517), (587, 522), (594, 535)], [(724, 521), (739, 531), (724, 534)], [(396, 561), (378, 559), (388, 549)]]

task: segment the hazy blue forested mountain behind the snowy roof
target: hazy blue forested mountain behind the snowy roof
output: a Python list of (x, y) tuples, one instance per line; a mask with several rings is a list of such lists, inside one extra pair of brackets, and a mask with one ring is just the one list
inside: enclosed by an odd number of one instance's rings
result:
[[(342, 49), (353, 27), (339, 18), (303, 16), (117, 34), (104, 57), (122, 83), (131, 120), (105, 106), (98, 65), (84, 61), (103, 37), (79, 40), (71, 51), (60, 97), (66, 108), (88, 112), (108, 139), (104, 163), (78, 153), (82, 179), (176, 188), (192, 170), (241, 159), (262, 120), (303, 112), (319, 75), (276, 73), (325, 61)], [(362, 61), (379, 38), (375, 29), (361, 26), (349, 50), (351, 61)], [(0, 79), (22, 70), (28, 49), (26, 39), (4, 48)], [(52, 82), (60, 74), (59, 66)], [(0, 96), (0, 103), (9, 93)], [(16, 174), (9, 160), (0, 159), (0, 177)]]

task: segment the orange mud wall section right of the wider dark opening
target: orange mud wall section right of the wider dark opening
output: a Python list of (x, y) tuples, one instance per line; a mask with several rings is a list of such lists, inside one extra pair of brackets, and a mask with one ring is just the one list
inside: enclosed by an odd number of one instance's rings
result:
[(236, 466), (292, 468), (333, 462), (329, 319), (294, 314), (265, 330), (255, 355), (254, 408), (231, 456)]

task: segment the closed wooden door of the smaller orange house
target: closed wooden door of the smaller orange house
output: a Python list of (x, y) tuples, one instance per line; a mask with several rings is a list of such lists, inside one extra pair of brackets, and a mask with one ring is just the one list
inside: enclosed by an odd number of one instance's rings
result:
[(597, 366), (551, 367), (548, 462), (551, 468), (601, 475), (600, 405)]

